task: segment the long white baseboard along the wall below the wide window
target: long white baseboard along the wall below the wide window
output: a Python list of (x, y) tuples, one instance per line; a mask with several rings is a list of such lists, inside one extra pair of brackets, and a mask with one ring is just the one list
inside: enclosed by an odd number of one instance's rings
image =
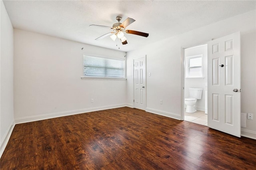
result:
[(34, 121), (41, 121), (41, 120), (45, 120), (45, 119), (52, 119), (52, 118), (56, 118), (56, 117), (76, 115), (76, 114), (93, 112), (93, 111), (101, 111), (101, 110), (106, 110), (106, 109), (114, 109), (114, 108), (125, 107), (125, 106), (127, 106), (126, 103), (118, 104), (118, 105), (101, 106), (101, 107), (91, 107), (91, 108), (87, 108), (87, 109), (78, 109), (78, 110), (74, 110), (74, 111), (64, 111), (64, 112), (50, 113), (50, 114), (30, 116), (30, 117), (22, 117), (22, 118), (14, 119), (14, 121), (16, 124), (28, 123), (28, 122), (34, 122)]

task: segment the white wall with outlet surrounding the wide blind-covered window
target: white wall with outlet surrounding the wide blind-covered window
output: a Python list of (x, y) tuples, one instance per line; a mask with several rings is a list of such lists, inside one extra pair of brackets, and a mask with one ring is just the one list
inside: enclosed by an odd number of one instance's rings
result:
[(126, 55), (14, 29), (16, 123), (126, 105), (126, 81), (81, 79), (83, 53), (118, 58)]

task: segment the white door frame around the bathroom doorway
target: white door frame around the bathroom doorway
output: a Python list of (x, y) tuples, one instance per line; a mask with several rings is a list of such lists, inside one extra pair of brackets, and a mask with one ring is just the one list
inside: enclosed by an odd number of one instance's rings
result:
[[(185, 68), (186, 68), (186, 59), (185, 59), (185, 56), (184, 56), (184, 51), (186, 48), (191, 48), (191, 47), (196, 47), (196, 46), (199, 46), (199, 45), (205, 45), (207, 44), (207, 42), (204, 42), (204, 43), (198, 43), (196, 45), (188, 45), (188, 46), (183, 46), (181, 47), (181, 115), (180, 115), (180, 120), (184, 121), (184, 113), (185, 113), (185, 108), (184, 108), (184, 83), (185, 83)], [(208, 68), (208, 65), (207, 65), (207, 68)], [(208, 79), (208, 77), (207, 77)]]

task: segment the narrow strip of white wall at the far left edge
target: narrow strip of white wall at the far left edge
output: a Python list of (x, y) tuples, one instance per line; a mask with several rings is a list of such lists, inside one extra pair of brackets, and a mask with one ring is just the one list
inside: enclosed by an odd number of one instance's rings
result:
[(14, 127), (13, 115), (13, 28), (9, 16), (0, 1), (0, 156)]

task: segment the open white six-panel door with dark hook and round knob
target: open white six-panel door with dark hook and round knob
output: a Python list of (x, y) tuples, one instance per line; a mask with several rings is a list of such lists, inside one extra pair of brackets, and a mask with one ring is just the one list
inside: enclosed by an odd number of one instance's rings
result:
[(208, 127), (241, 137), (240, 32), (208, 42)]

